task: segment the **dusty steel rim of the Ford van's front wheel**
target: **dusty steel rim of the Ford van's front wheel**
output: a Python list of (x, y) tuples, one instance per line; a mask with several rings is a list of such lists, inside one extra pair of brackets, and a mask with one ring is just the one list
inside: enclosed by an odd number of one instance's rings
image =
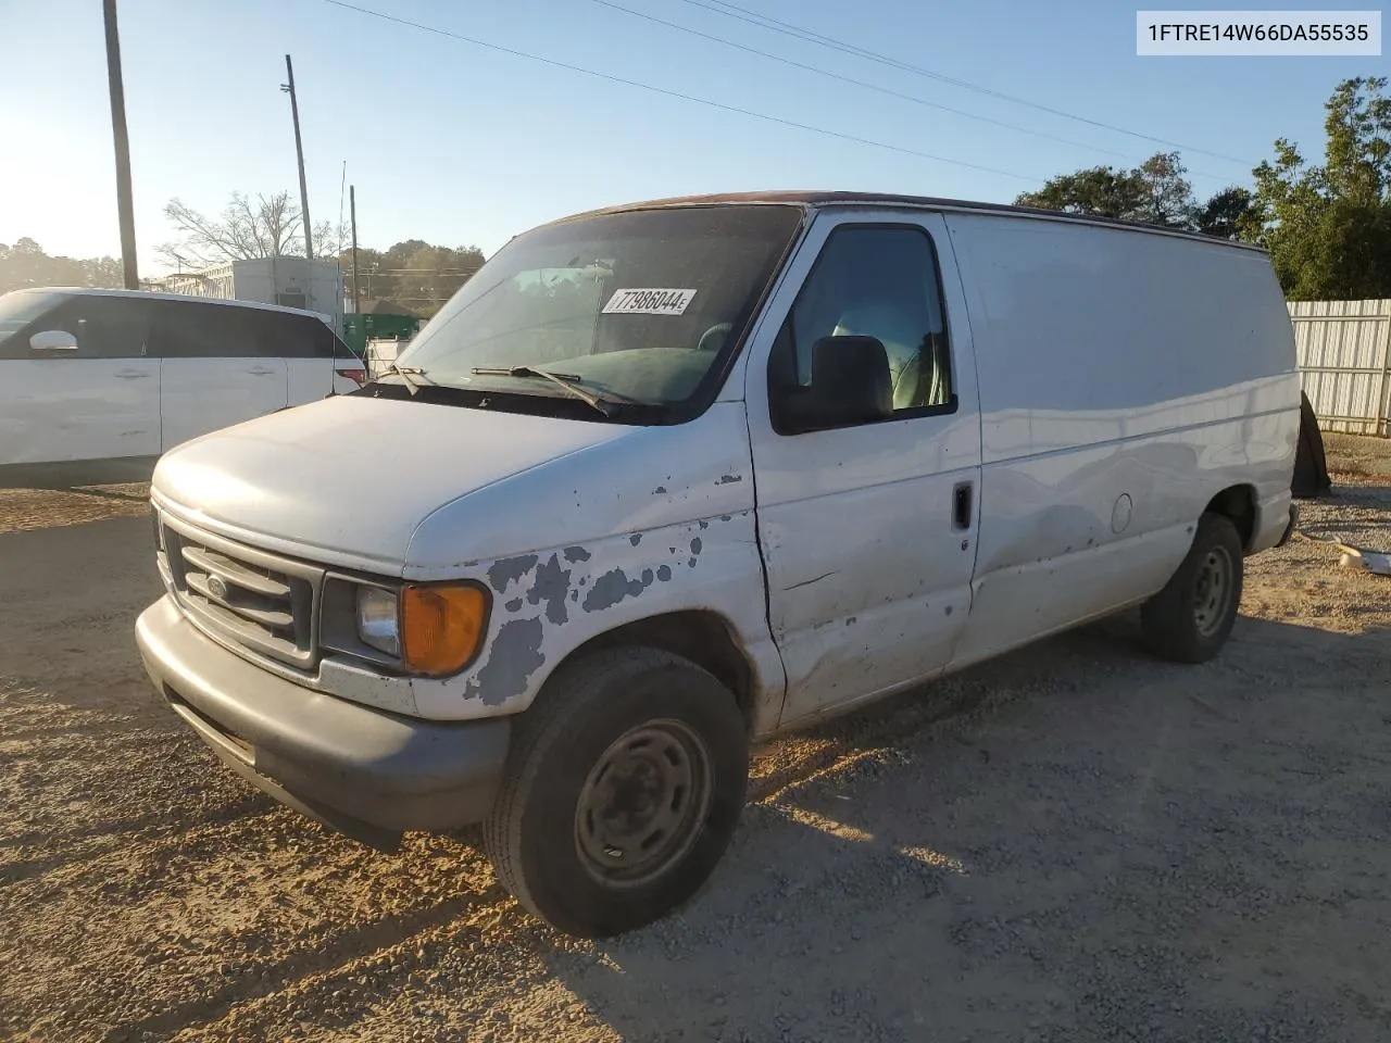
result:
[(640, 887), (694, 847), (709, 811), (709, 750), (680, 720), (625, 731), (590, 769), (574, 807), (574, 850), (606, 887)]

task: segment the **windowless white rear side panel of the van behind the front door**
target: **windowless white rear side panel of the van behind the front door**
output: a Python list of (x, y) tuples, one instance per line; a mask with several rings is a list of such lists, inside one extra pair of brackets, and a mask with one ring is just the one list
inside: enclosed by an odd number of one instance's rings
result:
[(1081, 223), (947, 224), (982, 414), (963, 662), (1153, 594), (1224, 488), (1253, 494), (1253, 549), (1278, 538), (1299, 382), (1263, 253)]

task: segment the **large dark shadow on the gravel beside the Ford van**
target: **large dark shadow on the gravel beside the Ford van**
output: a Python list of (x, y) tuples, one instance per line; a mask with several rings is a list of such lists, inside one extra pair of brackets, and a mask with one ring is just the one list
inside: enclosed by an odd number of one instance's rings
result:
[(1278, 925), (1345, 967), (1391, 929), (1326, 879), (1391, 879), (1388, 654), (1246, 617), (1199, 668), (1131, 617), (1022, 649), (783, 740), (839, 755), (751, 802), (683, 911), (547, 964), (625, 1040), (1216, 1039), (1288, 990), (1352, 1029), (1356, 982)]

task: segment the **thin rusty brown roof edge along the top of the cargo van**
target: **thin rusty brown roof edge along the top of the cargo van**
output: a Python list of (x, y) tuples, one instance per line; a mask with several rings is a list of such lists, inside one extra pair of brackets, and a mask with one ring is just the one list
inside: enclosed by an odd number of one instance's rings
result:
[[(670, 196), (666, 199), (648, 199), (638, 203), (622, 203), (618, 206), (601, 207), (598, 210), (590, 210), (583, 214), (574, 214), (573, 217), (566, 217), (561, 220), (569, 221), (580, 217), (598, 217), (601, 214), (619, 214), (633, 210), (662, 210), (666, 207), (730, 206), (730, 204), (800, 206), (804, 210), (821, 210), (830, 207), (865, 207), (865, 209), (890, 207), (890, 209), (904, 209), (904, 210), (953, 210), (958, 213), (1013, 214), (1015, 217), (1028, 217), (1040, 221), (1075, 221), (1079, 224), (1095, 224), (1111, 228), (1124, 228), (1132, 232), (1173, 235), (1184, 239), (1196, 239), (1199, 242), (1216, 243), (1219, 246), (1232, 246), (1237, 249), (1266, 253), (1264, 248), (1256, 246), (1253, 243), (1234, 242), (1231, 239), (1219, 239), (1212, 235), (1205, 235), (1203, 232), (1189, 232), (1181, 228), (1168, 228), (1166, 225), (1145, 224), (1141, 221), (1121, 221), (1114, 217), (1097, 217), (1092, 214), (1068, 214), (1061, 210), (1042, 210), (1028, 206), (1014, 206), (1011, 203), (982, 203), (968, 199), (940, 199), (936, 196), (904, 196), (889, 192), (817, 192), (817, 191), (723, 192), (716, 195), (700, 195), (700, 196)], [(556, 221), (555, 224), (559, 224), (559, 221)]]

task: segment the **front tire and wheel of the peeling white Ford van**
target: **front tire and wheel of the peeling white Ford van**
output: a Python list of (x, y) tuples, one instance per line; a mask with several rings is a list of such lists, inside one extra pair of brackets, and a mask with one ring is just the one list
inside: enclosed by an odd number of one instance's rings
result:
[[(566, 935), (608, 937), (701, 889), (747, 786), (748, 734), (729, 688), (670, 652), (605, 649), (563, 666), (517, 718), (483, 844), (533, 914)], [(620, 846), (648, 827), (665, 839)], [(645, 875), (643, 859), (655, 859)]]

